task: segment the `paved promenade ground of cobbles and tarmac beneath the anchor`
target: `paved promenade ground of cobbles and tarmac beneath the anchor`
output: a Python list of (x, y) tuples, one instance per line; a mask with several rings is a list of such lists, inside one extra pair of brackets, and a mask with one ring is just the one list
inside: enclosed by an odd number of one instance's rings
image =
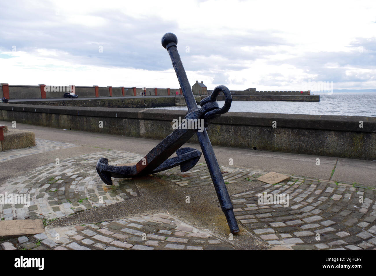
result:
[[(45, 232), (0, 237), (0, 249), (376, 249), (376, 161), (214, 146), (241, 229), (232, 237), (203, 157), (185, 173), (176, 167), (106, 186), (95, 169), (100, 157), (139, 161), (160, 141), (18, 122), (17, 129), (33, 131), (36, 146), (0, 152), (0, 194), (29, 193), (31, 202), (0, 205), (0, 216), (43, 219)], [(291, 178), (257, 180), (270, 171)], [(289, 206), (258, 204), (265, 192), (287, 193)]]

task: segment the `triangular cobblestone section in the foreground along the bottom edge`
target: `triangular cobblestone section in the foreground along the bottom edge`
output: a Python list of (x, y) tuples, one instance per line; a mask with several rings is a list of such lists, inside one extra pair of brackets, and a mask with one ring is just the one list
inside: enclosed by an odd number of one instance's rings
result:
[(14, 238), (0, 244), (7, 250), (233, 250), (231, 244), (212, 237), (168, 214), (76, 225), (45, 234)]

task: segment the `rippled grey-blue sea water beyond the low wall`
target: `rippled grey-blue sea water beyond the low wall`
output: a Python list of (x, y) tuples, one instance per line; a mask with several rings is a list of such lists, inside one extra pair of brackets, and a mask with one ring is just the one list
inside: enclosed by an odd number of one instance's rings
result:
[[(232, 101), (230, 112), (290, 113), (376, 117), (376, 92), (316, 92), (319, 102)], [(224, 101), (218, 101), (223, 106)], [(188, 110), (186, 106), (156, 109)]]

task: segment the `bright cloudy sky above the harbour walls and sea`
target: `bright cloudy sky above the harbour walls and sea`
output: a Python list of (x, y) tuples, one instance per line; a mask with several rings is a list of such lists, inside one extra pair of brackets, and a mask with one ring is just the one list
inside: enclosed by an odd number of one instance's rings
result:
[(12, 0), (0, 11), (0, 83), (176, 88), (161, 45), (172, 32), (191, 85), (376, 88), (374, 0)]

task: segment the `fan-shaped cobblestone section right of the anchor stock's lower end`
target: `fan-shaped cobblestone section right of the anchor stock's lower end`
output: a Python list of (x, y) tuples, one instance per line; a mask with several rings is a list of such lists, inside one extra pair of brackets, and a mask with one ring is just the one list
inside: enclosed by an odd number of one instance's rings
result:
[[(258, 195), (264, 193), (285, 193), (289, 206), (259, 204)], [(374, 189), (292, 178), (287, 183), (266, 184), (233, 195), (232, 202), (235, 217), (270, 245), (291, 249), (376, 250)]]

